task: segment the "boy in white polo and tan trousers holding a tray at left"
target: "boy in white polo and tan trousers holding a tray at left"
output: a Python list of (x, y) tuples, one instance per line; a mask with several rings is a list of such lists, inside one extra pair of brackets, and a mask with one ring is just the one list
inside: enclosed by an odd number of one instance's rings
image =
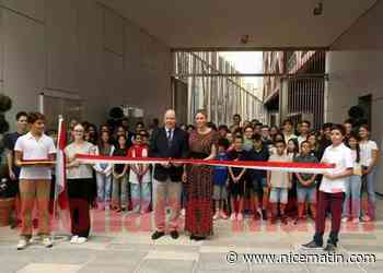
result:
[(15, 164), (20, 171), (21, 233), (18, 249), (24, 249), (32, 238), (32, 212), (34, 204), (38, 209), (38, 233), (43, 245), (53, 246), (49, 238), (49, 193), (51, 164), (26, 164), (25, 161), (54, 161), (56, 147), (54, 140), (44, 133), (45, 117), (31, 112), (27, 117), (30, 132), (18, 139), (14, 152)]

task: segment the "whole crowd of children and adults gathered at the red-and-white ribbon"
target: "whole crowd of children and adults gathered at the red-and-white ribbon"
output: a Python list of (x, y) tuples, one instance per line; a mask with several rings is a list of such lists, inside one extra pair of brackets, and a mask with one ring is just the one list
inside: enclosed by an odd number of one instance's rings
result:
[[(213, 234), (213, 221), (268, 219), (275, 224), (299, 225), (309, 215), (315, 221), (315, 236), (305, 248), (323, 247), (325, 218), (332, 214), (332, 232), (326, 250), (335, 250), (341, 222), (358, 224), (374, 221), (374, 174), (380, 157), (378, 145), (370, 140), (367, 124), (325, 123), (312, 130), (310, 121), (282, 127), (269, 127), (258, 120), (242, 122), (233, 116), (228, 127), (208, 121), (205, 110), (198, 110), (195, 124), (177, 126), (176, 114), (170, 109), (150, 130), (142, 122), (134, 132), (128, 120), (120, 124), (97, 127), (89, 122), (69, 123), (67, 188), (70, 200), (71, 244), (83, 244), (91, 230), (91, 209), (153, 211), (159, 239), (166, 230), (166, 207), (170, 207), (169, 230), (178, 238), (179, 216), (185, 214), (185, 232), (193, 240), (204, 240)], [(35, 166), (25, 161), (55, 158), (54, 139), (44, 133), (45, 117), (38, 112), (19, 112), (18, 131), (5, 135), (9, 150), (9, 176), (19, 181), (21, 239), (24, 249), (32, 237), (32, 211), (37, 204), (39, 235), (51, 247), (49, 238), (49, 192), (53, 173), (49, 163)], [(77, 154), (121, 156), (128, 158), (159, 157), (218, 161), (329, 163), (335, 169), (324, 175), (266, 171), (242, 167), (210, 167), (204, 164), (83, 164)], [(361, 205), (361, 194), (368, 195)]]

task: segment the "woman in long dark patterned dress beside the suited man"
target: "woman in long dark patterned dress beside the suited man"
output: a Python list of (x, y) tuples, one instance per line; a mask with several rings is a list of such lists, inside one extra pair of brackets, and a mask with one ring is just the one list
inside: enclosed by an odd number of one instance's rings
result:
[[(208, 127), (207, 114), (196, 114), (196, 130), (189, 135), (189, 152), (194, 159), (213, 159), (217, 154), (218, 132)], [(212, 235), (212, 179), (206, 165), (187, 166), (187, 203), (185, 230), (190, 239), (204, 240)]]

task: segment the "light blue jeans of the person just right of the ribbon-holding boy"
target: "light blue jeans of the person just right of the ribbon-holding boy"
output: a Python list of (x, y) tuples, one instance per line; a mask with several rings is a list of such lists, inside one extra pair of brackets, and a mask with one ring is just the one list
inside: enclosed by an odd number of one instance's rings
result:
[[(360, 195), (361, 195), (362, 178), (360, 176), (350, 176), (346, 183), (346, 199), (344, 202), (344, 217), (359, 218), (360, 216)], [(351, 201), (351, 207), (350, 207)], [(350, 213), (352, 211), (352, 215)]]

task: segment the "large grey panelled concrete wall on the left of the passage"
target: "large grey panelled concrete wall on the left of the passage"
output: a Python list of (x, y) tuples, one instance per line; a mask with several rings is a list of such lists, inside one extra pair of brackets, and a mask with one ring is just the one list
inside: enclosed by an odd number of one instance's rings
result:
[(120, 104), (143, 108), (147, 119), (162, 116), (171, 70), (167, 46), (95, 0), (0, 0), (0, 92), (13, 99), (9, 120), (37, 110), (43, 90), (80, 96), (92, 122)]

